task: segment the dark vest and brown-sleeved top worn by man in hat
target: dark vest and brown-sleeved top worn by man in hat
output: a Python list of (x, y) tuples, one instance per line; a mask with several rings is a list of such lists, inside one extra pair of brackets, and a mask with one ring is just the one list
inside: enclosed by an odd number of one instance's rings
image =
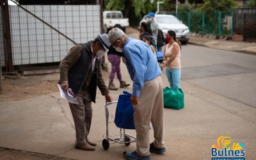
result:
[(95, 102), (97, 86), (102, 95), (109, 91), (101, 73), (100, 60), (95, 61), (92, 72), (92, 50), (90, 42), (76, 45), (60, 63), (60, 82), (68, 81), (74, 93), (82, 89), (90, 90), (92, 102)]

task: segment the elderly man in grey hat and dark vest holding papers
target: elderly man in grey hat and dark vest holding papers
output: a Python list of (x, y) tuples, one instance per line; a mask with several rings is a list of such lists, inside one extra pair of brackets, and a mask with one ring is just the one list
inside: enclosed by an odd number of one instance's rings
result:
[(71, 88), (79, 104), (69, 103), (76, 128), (75, 148), (95, 150), (96, 143), (88, 140), (92, 122), (92, 102), (95, 103), (97, 86), (106, 102), (111, 102), (108, 87), (101, 72), (100, 58), (109, 49), (108, 35), (102, 34), (95, 40), (78, 44), (70, 49), (60, 63), (61, 88)]

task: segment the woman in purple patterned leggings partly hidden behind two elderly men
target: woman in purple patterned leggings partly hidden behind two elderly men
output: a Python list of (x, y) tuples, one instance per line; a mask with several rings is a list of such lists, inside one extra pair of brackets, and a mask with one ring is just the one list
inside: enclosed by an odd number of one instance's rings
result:
[[(114, 28), (122, 29), (120, 24), (116, 24)], [(120, 69), (120, 59), (122, 57), (122, 49), (117, 49), (117, 50), (118, 51), (116, 51), (116, 49), (111, 45), (108, 51), (108, 60), (111, 63), (111, 72), (109, 74), (109, 84), (108, 84), (109, 90), (118, 90), (118, 88), (113, 83), (115, 74), (116, 74), (116, 77), (118, 78), (118, 81), (120, 82), (120, 88), (125, 88), (130, 85), (130, 84), (127, 84), (122, 79), (121, 69)], [(123, 58), (122, 60), (124, 61)]]

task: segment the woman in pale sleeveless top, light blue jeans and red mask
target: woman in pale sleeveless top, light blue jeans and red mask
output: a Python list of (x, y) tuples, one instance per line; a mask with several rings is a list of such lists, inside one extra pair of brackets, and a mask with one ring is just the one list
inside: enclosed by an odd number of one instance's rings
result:
[(170, 83), (171, 89), (180, 88), (180, 42), (176, 39), (175, 31), (168, 31), (170, 41), (164, 48), (164, 63), (161, 69), (166, 68), (166, 76)]

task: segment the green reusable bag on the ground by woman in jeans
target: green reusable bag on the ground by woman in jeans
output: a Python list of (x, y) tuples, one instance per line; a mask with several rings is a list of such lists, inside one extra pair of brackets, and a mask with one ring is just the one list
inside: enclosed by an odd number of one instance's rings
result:
[(181, 88), (164, 88), (164, 108), (182, 109), (184, 108), (184, 93)]

